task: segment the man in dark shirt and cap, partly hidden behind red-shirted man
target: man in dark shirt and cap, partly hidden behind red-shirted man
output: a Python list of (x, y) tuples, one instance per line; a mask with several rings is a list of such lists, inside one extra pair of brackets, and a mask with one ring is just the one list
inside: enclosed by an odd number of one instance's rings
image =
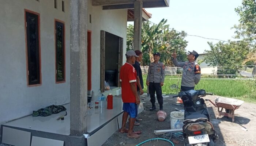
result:
[[(137, 77), (136, 77), (136, 82), (137, 82), (137, 93), (138, 96), (140, 97), (140, 95), (143, 95), (143, 78), (142, 78), (142, 71), (140, 68), (140, 63), (142, 61), (142, 52), (140, 50), (135, 50), (135, 53), (137, 56), (139, 57), (135, 57), (135, 64), (133, 64), (132, 66), (135, 68), (136, 72), (137, 72)], [(136, 121), (142, 121), (142, 119), (136, 117)], [(135, 122), (134, 125), (139, 125), (140, 123)]]

